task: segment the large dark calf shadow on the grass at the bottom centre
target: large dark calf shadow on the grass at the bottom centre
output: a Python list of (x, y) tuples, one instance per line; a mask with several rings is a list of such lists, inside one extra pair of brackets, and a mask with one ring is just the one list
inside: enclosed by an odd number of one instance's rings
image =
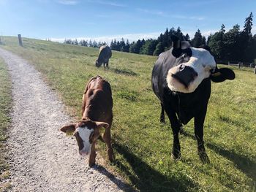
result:
[(174, 175), (167, 177), (157, 172), (157, 170), (148, 166), (138, 156), (130, 153), (127, 147), (117, 142), (113, 142), (113, 147), (119, 154), (123, 155), (127, 163), (132, 167), (132, 171), (118, 160), (116, 165), (127, 174), (132, 184), (139, 191), (187, 191), (188, 188), (197, 188), (192, 180), (189, 180), (182, 174), (176, 175), (177, 177)]

